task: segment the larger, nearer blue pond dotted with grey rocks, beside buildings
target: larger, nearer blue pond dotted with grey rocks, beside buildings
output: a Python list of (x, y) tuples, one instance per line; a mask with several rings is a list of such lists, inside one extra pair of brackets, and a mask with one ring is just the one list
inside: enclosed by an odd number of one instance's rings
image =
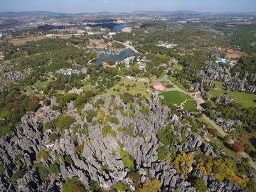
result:
[(115, 54), (106, 55), (101, 53), (98, 55), (97, 59), (92, 61), (92, 63), (102, 63), (103, 61), (107, 61), (107, 60), (124, 60), (126, 55), (129, 55), (130, 57), (130, 56), (133, 56), (134, 53), (130, 49), (125, 49), (118, 55), (115, 55)]

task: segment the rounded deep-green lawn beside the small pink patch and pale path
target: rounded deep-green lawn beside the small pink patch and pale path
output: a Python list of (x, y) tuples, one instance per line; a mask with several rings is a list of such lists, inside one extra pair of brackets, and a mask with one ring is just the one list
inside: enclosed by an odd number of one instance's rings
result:
[[(181, 105), (181, 102), (184, 102), (185, 100), (192, 99), (188, 95), (185, 95), (182, 92), (178, 92), (178, 91), (161, 92), (159, 95), (164, 95), (164, 102), (166, 102), (166, 103), (171, 102), (171, 103), (177, 104), (177, 105)], [(188, 106), (189, 105), (190, 104), (188, 104)]]

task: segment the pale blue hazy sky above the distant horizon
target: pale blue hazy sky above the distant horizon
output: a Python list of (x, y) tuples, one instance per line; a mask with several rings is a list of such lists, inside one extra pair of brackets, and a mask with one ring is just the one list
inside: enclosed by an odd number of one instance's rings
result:
[(0, 0), (4, 11), (132, 12), (132, 11), (255, 12), (256, 0)]

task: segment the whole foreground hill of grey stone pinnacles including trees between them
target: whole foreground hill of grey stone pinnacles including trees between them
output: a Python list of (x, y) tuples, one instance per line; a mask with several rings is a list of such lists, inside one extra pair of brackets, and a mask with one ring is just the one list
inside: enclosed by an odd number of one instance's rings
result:
[(161, 191), (196, 191), (191, 176), (208, 191), (245, 191), (198, 166), (199, 156), (220, 158), (191, 131), (189, 112), (172, 114), (157, 93), (151, 100), (121, 97), (98, 96), (82, 110), (70, 102), (63, 112), (53, 110), (58, 104), (52, 98), (25, 115), (11, 136), (0, 139), (0, 191), (65, 191), (75, 179), (89, 191), (143, 191), (149, 181), (158, 181)]

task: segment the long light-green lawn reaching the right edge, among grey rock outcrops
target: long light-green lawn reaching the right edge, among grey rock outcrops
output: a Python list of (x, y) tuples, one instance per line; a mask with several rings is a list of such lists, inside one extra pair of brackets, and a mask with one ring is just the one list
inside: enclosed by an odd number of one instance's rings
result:
[[(216, 97), (217, 95), (224, 94), (225, 90), (212, 90), (212, 97)], [(256, 107), (256, 95), (247, 94), (246, 92), (238, 92), (238, 91), (228, 91), (228, 97), (236, 97), (237, 102), (242, 104), (243, 107)]]

